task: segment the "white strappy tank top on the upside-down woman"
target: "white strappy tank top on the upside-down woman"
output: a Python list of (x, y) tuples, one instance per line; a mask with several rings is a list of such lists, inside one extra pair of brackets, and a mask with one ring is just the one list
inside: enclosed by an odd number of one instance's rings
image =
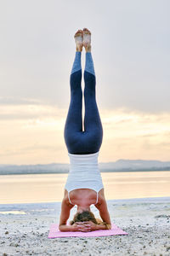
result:
[(69, 193), (74, 189), (93, 189), (98, 193), (103, 189), (103, 183), (98, 166), (99, 152), (94, 154), (70, 154), (70, 172), (68, 174), (65, 189)]

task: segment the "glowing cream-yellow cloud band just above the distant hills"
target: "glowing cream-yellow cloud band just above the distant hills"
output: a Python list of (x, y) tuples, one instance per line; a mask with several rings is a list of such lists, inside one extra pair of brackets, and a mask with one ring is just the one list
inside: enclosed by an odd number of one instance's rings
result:
[[(6, 116), (0, 119), (1, 163), (68, 162), (64, 141), (67, 110), (29, 101), (27, 105), (0, 105), (0, 113)], [(100, 115), (104, 128), (100, 161), (169, 160), (170, 113), (120, 108), (100, 109)]]

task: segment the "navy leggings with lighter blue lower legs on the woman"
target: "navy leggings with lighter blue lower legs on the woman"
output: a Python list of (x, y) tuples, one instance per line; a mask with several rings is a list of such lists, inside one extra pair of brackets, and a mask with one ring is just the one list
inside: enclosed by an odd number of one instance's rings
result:
[[(71, 103), (65, 122), (64, 132), (65, 144), (70, 154), (96, 153), (99, 151), (102, 143), (103, 129), (95, 98), (95, 75), (93, 71), (90, 73), (91, 66), (89, 65), (92, 65), (93, 63), (92, 56), (91, 59), (89, 58), (90, 55), (88, 55), (88, 59), (91, 62), (86, 63), (84, 71), (84, 131), (82, 131), (82, 67), (80, 64), (78, 65), (76, 62), (76, 70), (73, 68), (71, 73)], [(75, 61), (77, 61), (77, 57), (75, 58)]]

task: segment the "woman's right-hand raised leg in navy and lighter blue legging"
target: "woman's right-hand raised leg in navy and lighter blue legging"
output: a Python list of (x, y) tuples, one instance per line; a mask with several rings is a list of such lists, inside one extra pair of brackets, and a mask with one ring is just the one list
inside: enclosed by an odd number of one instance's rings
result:
[(86, 49), (86, 64), (84, 71), (84, 130), (86, 133), (86, 148), (88, 149), (89, 153), (95, 153), (99, 151), (99, 148), (102, 143), (103, 128), (99, 117), (99, 110), (95, 97), (95, 73), (94, 61), (91, 55), (91, 47), (89, 47), (89, 45), (87, 44)]

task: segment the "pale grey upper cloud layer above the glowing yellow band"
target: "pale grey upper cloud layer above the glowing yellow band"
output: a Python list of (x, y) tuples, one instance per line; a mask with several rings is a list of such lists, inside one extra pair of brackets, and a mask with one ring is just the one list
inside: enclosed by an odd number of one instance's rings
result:
[(0, 8), (1, 96), (66, 108), (73, 35), (88, 26), (101, 108), (170, 111), (168, 1), (87, 1), (88, 19), (84, 3), (76, 0), (9, 3)]

